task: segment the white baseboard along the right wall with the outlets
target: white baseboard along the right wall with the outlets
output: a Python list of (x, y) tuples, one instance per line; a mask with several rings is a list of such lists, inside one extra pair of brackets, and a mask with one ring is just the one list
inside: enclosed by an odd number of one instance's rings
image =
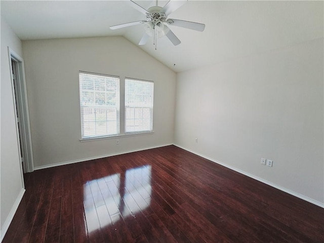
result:
[(234, 171), (236, 171), (236, 172), (239, 172), (239, 173), (241, 173), (241, 174), (243, 174), (243, 175), (245, 175), (245, 176), (247, 176), (247, 177), (250, 177), (250, 178), (252, 178), (252, 179), (255, 179), (255, 180), (259, 181), (259, 182), (262, 182), (262, 183), (267, 184), (267, 185), (269, 185), (269, 186), (271, 186), (271, 187), (274, 187), (274, 188), (276, 188), (276, 189), (279, 189), (280, 191), (287, 192), (287, 193), (289, 193), (289, 194), (291, 194), (291, 195), (293, 195), (293, 196), (296, 196), (296, 197), (298, 197), (298, 198), (300, 198), (300, 199), (303, 199), (303, 200), (305, 200), (305, 201), (308, 201), (308, 202), (310, 202), (310, 203), (313, 203), (313, 204), (315, 204), (315, 205), (317, 205), (317, 206), (320, 206), (320, 207), (323, 207), (323, 208), (324, 208), (324, 203), (321, 203), (321, 202), (319, 202), (319, 201), (317, 201), (317, 200), (314, 200), (314, 199), (312, 199), (312, 198), (309, 198), (309, 197), (307, 197), (307, 196), (304, 196), (304, 195), (302, 195), (302, 194), (299, 194), (299, 193), (297, 193), (297, 192), (294, 192), (294, 191), (292, 191), (292, 190), (289, 190), (289, 189), (287, 189), (287, 188), (285, 188), (285, 187), (278, 186), (278, 185), (276, 185), (276, 184), (274, 184), (274, 183), (272, 183), (272, 182), (269, 182), (269, 181), (266, 181), (266, 180), (264, 180), (264, 179), (262, 179), (262, 178), (259, 178), (259, 177), (257, 177), (257, 176), (254, 176), (254, 175), (252, 175), (252, 174), (250, 174), (250, 173), (248, 173), (248, 172), (246, 172), (246, 171), (244, 171), (244, 170), (241, 170), (241, 169), (235, 168), (235, 167), (233, 167), (233, 166), (230, 166), (230, 165), (228, 165), (228, 164), (225, 164), (225, 163), (223, 163), (223, 162), (220, 162), (220, 161), (218, 161), (218, 160), (216, 160), (216, 159), (210, 158), (210, 157), (205, 156), (205, 155), (203, 155), (203, 154), (199, 154), (199, 153), (197, 153), (197, 152), (195, 152), (195, 151), (192, 151), (192, 150), (190, 150), (190, 149), (184, 148), (184, 147), (182, 147), (182, 146), (180, 146), (180, 145), (174, 144), (174, 146), (177, 146), (177, 147), (179, 147), (179, 148), (181, 148), (181, 149), (184, 149), (184, 150), (186, 150), (186, 151), (188, 151), (188, 152), (190, 152), (190, 153), (193, 153), (193, 154), (196, 154), (196, 155), (198, 155), (198, 156), (200, 156), (200, 157), (203, 157), (203, 158), (205, 158), (205, 159), (208, 159), (208, 160), (210, 160), (210, 161), (212, 161), (212, 162), (214, 162), (214, 163), (217, 163), (217, 164), (223, 165), (223, 166), (225, 166), (225, 167), (227, 167), (227, 168), (229, 168), (229, 169), (232, 169), (232, 170), (234, 170)]

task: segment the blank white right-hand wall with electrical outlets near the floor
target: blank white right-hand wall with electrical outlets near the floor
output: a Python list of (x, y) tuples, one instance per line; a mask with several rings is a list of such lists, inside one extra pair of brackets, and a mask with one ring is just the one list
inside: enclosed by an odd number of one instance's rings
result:
[(317, 39), (179, 73), (175, 143), (323, 205), (323, 64)]

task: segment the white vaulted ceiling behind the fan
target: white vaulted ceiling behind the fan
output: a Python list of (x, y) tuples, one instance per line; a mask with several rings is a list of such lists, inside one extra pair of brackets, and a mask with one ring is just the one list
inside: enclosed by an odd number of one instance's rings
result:
[[(135, 2), (146, 9), (156, 3)], [(124, 36), (135, 45), (143, 25), (109, 26), (145, 20), (129, 1), (2, 0), (1, 16), (21, 40)], [(175, 72), (323, 38), (323, 1), (189, 0), (169, 17), (206, 24), (204, 32), (171, 26), (182, 41), (178, 46), (166, 37), (158, 39), (157, 50), (152, 38), (139, 46)]]

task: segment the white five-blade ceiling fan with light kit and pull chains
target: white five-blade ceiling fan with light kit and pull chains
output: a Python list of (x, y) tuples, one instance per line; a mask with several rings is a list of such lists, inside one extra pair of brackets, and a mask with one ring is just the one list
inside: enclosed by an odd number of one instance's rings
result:
[(143, 34), (142, 39), (139, 42), (139, 45), (145, 45), (147, 40), (153, 36), (156, 50), (156, 39), (166, 36), (173, 45), (179, 45), (181, 41), (176, 37), (176, 35), (170, 30), (168, 25), (175, 25), (183, 28), (204, 31), (205, 24), (179, 20), (179, 19), (168, 19), (168, 15), (177, 10), (187, 1), (172, 1), (170, 0), (164, 7), (156, 6), (150, 7), (148, 10), (144, 9), (134, 1), (130, 0), (132, 6), (143, 13), (146, 16), (146, 20), (140, 20), (125, 24), (118, 24), (110, 26), (110, 29), (119, 29), (137, 24), (144, 24), (145, 33)]

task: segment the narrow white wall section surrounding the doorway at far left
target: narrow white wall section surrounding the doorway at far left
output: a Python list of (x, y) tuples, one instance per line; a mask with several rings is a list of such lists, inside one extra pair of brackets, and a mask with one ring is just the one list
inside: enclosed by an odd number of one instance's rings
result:
[(20, 40), (1, 18), (1, 238), (12, 220), (23, 193), (8, 46), (22, 56)]

